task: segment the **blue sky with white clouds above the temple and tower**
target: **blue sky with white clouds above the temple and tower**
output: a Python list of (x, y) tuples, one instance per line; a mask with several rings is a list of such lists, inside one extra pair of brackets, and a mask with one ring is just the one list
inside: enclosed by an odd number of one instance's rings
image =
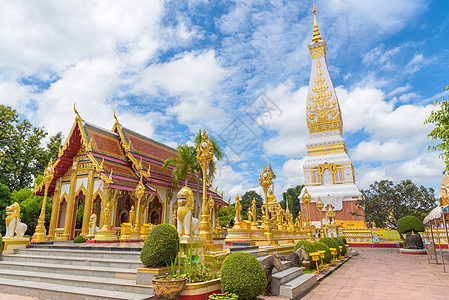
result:
[(303, 183), (313, 4), (359, 188), (410, 178), (438, 188), (424, 119), (447, 99), (449, 2), (2, 1), (0, 103), (50, 134), (81, 116), (171, 146), (206, 128), (225, 159), (215, 185), (278, 198)]

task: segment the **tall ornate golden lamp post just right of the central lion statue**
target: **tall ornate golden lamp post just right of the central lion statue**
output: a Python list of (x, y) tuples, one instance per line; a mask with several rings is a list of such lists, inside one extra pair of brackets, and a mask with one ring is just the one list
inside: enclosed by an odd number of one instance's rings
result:
[(203, 171), (203, 204), (201, 206), (200, 238), (204, 238), (207, 243), (212, 242), (212, 232), (209, 223), (209, 209), (207, 207), (206, 172), (209, 163), (214, 156), (214, 145), (209, 141), (206, 130), (203, 130), (201, 143), (196, 149), (196, 158)]

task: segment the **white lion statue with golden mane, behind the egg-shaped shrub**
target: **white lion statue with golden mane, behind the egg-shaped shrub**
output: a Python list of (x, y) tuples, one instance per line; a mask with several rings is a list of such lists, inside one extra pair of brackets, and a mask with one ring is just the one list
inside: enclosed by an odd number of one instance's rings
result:
[(178, 192), (178, 216), (176, 225), (180, 237), (189, 237), (191, 233), (194, 236), (198, 236), (199, 234), (200, 222), (192, 216), (193, 206), (193, 192), (185, 186)]

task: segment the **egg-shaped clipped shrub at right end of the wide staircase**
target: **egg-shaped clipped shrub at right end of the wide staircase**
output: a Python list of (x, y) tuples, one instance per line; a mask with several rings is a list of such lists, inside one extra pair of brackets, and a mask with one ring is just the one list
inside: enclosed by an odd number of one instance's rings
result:
[(178, 251), (179, 236), (176, 229), (168, 224), (159, 224), (147, 235), (140, 260), (149, 268), (165, 267), (175, 260)]

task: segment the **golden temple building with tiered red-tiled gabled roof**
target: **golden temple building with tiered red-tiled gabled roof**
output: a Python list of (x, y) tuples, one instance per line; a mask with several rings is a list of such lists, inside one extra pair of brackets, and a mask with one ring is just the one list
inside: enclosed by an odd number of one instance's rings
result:
[[(106, 130), (75, 113), (75, 123), (53, 163), (54, 176), (48, 186), (52, 211), (51, 219), (46, 220), (47, 240), (86, 237), (94, 215), (97, 228), (117, 232), (123, 223), (142, 227), (173, 224), (176, 194), (184, 180), (175, 189), (172, 168), (162, 169), (162, 165), (166, 159), (177, 157), (177, 151), (123, 127), (115, 115), (112, 130)], [(139, 182), (144, 186), (140, 199), (140, 193), (136, 194)], [(196, 192), (197, 177), (189, 176), (188, 186)], [(35, 187), (35, 194), (44, 194), (43, 183)], [(214, 200), (215, 226), (219, 207), (229, 204), (210, 187), (207, 194)], [(77, 213), (82, 214), (81, 222), (77, 222)]]

